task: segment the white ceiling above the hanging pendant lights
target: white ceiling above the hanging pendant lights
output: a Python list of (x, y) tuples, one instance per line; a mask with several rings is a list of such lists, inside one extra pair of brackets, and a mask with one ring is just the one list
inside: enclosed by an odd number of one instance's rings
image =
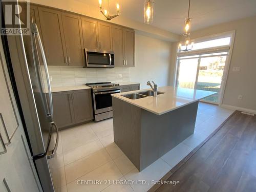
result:
[[(118, 2), (122, 16), (143, 23), (144, 0), (109, 1), (113, 11)], [(86, 0), (86, 3), (98, 6), (98, 0)], [(182, 34), (187, 10), (188, 0), (155, 0), (151, 25)], [(256, 15), (256, 0), (191, 0), (191, 31), (253, 15)]]

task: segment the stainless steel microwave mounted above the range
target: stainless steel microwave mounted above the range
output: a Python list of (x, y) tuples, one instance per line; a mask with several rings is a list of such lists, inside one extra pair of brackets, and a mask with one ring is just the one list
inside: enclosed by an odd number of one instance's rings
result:
[(114, 52), (95, 49), (85, 49), (86, 67), (91, 68), (114, 68)]

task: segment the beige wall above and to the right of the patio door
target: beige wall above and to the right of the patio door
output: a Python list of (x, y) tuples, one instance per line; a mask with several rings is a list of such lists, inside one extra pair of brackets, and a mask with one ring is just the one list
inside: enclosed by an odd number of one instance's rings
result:
[[(191, 38), (236, 30), (223, 104), (256, 111), (256, 16), (191, 32)], [(174, 64), (174, 63), (173, 63)], [(233, 72), (240, 67), (240, 72)], [(239, 100), (238, 95), (243, 95)]]

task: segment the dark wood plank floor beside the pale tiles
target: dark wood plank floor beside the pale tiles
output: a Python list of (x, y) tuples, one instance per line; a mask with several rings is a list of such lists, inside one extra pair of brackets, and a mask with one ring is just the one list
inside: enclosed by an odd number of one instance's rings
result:
[(256, 191), (256, 116), (235, 112), (167, 181), (156, 191)]

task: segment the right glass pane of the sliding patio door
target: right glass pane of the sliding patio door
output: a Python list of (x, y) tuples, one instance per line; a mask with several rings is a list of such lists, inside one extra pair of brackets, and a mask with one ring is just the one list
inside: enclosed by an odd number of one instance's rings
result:
[(218, 102), (226, 56), (205, 57), (199, 60), (197, 89), (218, 92), (205, 101)]

